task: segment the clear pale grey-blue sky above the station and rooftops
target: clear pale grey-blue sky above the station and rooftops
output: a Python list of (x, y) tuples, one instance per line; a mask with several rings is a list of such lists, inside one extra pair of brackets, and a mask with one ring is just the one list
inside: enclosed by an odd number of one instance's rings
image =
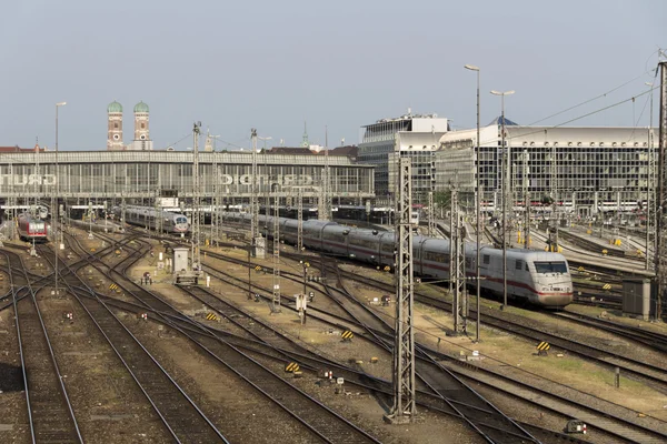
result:
[[(408, 108), (474, 128), (467, 63), (480, 68), (482, 125), (500, 114), (489, 91), (515, 90), (505, 112), (519, 124), (646, 127), (645, 82), (667, 49), (664, 0), (21, 0), (1, 10), (0, 145), (52, 148), (56, 103), (67, 101), (61, 151), (106, 150), (113, 100), (126, 143), (133, 105), (149, 104), (155, 149), (192, 147), (195, 121), (219, 135), (218, 150), (249, 147), (251, 128), (267, 147), (297, 147), (305, 122), (311, 143), (358, 143), (360, 127)], [(657, 115), (657, 89), (654, 100)]]

